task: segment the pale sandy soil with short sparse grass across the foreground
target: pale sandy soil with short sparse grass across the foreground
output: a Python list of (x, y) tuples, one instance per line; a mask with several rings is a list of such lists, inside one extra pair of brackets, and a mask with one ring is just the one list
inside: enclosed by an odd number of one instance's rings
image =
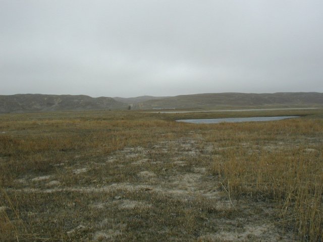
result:
[[(8, 192), (55, 194), (73, 192), (84, 194), (106, 194), (104, 199), (86, 201), (87, 210), (97, 212), (98, 219), (86, 223), (86, 219), (75, 227), (64, 228), (69, 236), (85, 233), (82, 241), (123, 241), (131, 229), (129, 223), (120, 222), (112, 215), (106, 217), (105, 211), (114, 208), (116, 217), (118, 211), (125, 211), (125, 216), (140, 216), (144, 211), (151, 216), (158, 217), (158, 204), (163, 201), (177, 201), (186, 206), (184, 213), (192, 213), (190, 204), (198, 201), (201, 204), (211, 204), (213, 212), (201, 213), (204, 228), (196, 232), (196, 241), (293, 241), (293, 235), (275, 224), (276, 209), (268, 203), (252, 202), (249, 199), (229, 199), (228, 193), (221, 189), (216, 176), (209, 171), (210, 157), (214, 151), (223, 151), (230, 147), (213, 147), (211, 144), (201, 146), (200, 139), (181, 138), (173, 142), (160, 142), (151, 149), (143, 147), (125, 148), (104, 160), (82, 161), (82, 157), (75, 157), (79, 162), (64, 161), (57, 167), (59, 172), (37, 177), (21, 177), (16, 184), (21, 188), (8, 189)], [(241, 144), (248, 147), (248, 144)], [(257, 152), (250, 147), (250, 152)], [(278, 149), (279, 144), (268, 144), (266, 149)], [(315, 152), (307, 149), (304, 152)], [(171, 156), (169, 154), (172, 154)], [(219, 155), (221, 156), (221, 155)], [(109, 183), (109, 177), (101, 170), (123, 169), (133, 170), (133, 180), (125, 178), (119, 183)], [(69, 184), (66, 176), (72, 180), (91, 176), (90, 184)], [(131, 194), (131, 196), (129, 196)], [(138, 200), (134, 199), (138, 194)], [(144, 196), (144, 199), (143, 199)], [(161, 202), (158, 202), (158, 199)], [(77, 201), (67, 201), (67, 209), (75, 206)], [(156, 207), (157, 206), (157, 207)], [(171, 205), (170, 205), (171, 206)], [(6, 210), (7, 207), (0, 207)], [(63, 209), (63, 208), (62, 208)], [(194, 209), (203, 209), (195, 206)], [(170, 209), (172, 210), (172, 209)], [(180, 213), (183, 213), (181, 211)], [(196, 212), (196, 211), (195, 211)], [(198, 211), (197, 211), (198, 212)], [(137, 214), (137, 215), (136, 215)], [(40, 215), (40, 214), (39, 214)], [(31, 215), (30, 215), (31, 216)], [(37, 217), (38, 215), (32, 215)], [(81, 215), (82, 216), (82, 213)], [(171, 217), (182, 216), (176, 211)], [(190, 216), (187, 215), (189, 220)], [(195, 216), (195, 215), (194, 215)], [(189, 222), (189, 221), (188, 221)], [(193, 225), (192, 225), (193, 226)], [(90, 229), (89, 229), (90, 228)], [(213, 228), (213, 229), (212, 229)], [(146, 228), (145, 228), (146, 229)], [(169, 227), (153, 233), (168, 233)], [(149, 233), (149, 231), (146, 231)], [(144, 233), (144, 232), (143, 232)], [(168, 239), (178, 241), (176, 236)]]

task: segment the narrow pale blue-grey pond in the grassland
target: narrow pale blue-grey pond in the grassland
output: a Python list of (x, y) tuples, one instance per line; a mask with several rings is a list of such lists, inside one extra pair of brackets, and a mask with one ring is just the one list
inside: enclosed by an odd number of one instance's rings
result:
[(191, 124), (219, 124), (219, 123), (239, 123), (239, 122), (260, 122), (274, 121), (286, 118), (295, 118), (299, 116), (277, 116), (277, 117), (230, 117), (230, 118), (205, 118), (205, 119), (179, 119), (177, 122)]

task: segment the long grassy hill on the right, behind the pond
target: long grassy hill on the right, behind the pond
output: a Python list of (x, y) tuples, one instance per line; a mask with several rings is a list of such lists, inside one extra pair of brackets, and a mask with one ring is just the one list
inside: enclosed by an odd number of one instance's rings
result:
[(217, 105), (303, 105), (323, 104), (323, 93), (280, 92), (280, 93), (205, 93), (180, 95), (137, 103), (133, 108), (208, 108)]

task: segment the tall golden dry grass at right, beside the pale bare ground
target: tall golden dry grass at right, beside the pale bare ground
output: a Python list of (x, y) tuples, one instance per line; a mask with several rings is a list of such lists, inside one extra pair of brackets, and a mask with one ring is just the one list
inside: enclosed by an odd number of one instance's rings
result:
[[(233, 126), (240, 143), (214, 158), (231, 196), (247, 195), (274, 202), (281, 208), (281, 224), (305, 241), (323, 238), (323, 129), (321, 120), (285, 120)], [(246, 131), (245, 139), (241, 132)], [(251, 148), (251, 149), (250, 149)]]

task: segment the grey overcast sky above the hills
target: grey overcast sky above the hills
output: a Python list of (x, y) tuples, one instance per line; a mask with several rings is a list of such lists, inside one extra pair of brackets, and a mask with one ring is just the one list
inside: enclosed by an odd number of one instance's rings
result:
[(323, 1), (0, 0), (0, 94), (323, 92)]

